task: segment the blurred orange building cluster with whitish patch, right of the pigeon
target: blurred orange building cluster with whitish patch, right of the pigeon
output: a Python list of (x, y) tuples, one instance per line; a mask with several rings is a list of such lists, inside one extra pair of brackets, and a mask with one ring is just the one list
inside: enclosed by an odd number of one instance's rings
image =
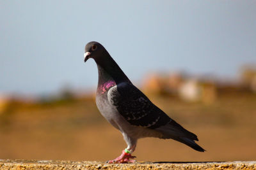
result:
[(143, 81), (143, 91), (149, 95), (179, 97), (189, 102), (212, 103), (217, 97), (213, 80), (194, 78), (186, 73), (148, 74)]

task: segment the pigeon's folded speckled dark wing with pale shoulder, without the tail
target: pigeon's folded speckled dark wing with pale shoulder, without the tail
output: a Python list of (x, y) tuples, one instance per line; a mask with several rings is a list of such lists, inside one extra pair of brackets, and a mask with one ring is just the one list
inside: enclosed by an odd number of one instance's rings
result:
[(108, 100), (131, 125), (156, 129), (172, 120), (131, 83), (109, 89)]

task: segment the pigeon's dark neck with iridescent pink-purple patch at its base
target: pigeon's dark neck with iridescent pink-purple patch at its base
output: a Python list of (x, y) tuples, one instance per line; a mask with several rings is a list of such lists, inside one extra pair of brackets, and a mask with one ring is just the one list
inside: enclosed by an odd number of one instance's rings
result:
[(99, 72), (98, 90), (105, 92), (118, 83), (131, 82), (110, 55), (104, 60), (95, 61)]

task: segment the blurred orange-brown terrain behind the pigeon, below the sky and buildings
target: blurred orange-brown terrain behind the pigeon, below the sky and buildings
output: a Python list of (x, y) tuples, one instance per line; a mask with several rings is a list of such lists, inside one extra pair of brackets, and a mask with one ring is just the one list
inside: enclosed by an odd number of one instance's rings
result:
[[(148, 97), (194, 132), (207, 152), (171, 139), (144, 138), (138, 141), (136, 160), (255, 160), (255, 94), (218, 94), (211, 103), (164, 94)], [(100, 115), (92, 96), (36, 102), (2, 99), (0, 111), (0, 159), (105, 161), (126, 147), (122, 134)]]

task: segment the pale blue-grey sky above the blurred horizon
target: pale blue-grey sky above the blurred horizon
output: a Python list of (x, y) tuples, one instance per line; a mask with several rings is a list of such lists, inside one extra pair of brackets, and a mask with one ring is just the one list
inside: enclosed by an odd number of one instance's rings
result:
[(256, 1), (0, 0), (0, 22), (0, 93), (95, 89), (89, 41), (135, 83), (150, 71), (235, 77), (256, 63)]

